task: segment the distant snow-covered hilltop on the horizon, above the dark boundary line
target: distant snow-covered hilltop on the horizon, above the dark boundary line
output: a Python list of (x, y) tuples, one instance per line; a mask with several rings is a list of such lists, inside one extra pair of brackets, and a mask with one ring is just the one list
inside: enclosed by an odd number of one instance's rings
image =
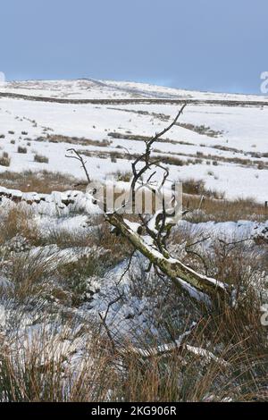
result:
[(147, 83), (115, 80), (25, 80), (2, 84), (2, 92), (37, 97), (69, 99), (197, 99), (230, 101), (264, 101), (268, 97), (257, 95), (199, 92), (194, 90), (166, 88)]

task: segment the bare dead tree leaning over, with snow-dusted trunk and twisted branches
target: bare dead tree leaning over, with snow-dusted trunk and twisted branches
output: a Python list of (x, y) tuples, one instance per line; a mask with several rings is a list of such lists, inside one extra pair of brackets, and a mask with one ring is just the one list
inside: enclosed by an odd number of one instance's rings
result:
[[(219, 302), (230, 298), (230, 292), (226, 284), (202, 273), (197, 273), (170, 254), (166, 244), (174, 226), (174, 218), (172, 217), (173, 214), (167, 211), (169, 209), (167, 209), (165, 203), (150, 217), (139, 213), (138, 223), (130, 223), (125, 216), (126, 209), (135, 207), (135, 197), (138, 189), (149, 189), (155, 197), (163, 197), (163, 189), (169, 178), (169, 169), (164, 167), (159, 159), (156, 160), (152, 156), (152, 147), (158, 139), (172, 129), (183, 113), (185, 106), (186, 104), (181, 107), (180, 112), (167, 128), (156, 133), (151, 139), (145, 140), (145, 152), (131, 164), (132, 179), (130, 180), (128, 199), (120, 208), (113, 210), (113, 212), (107, 211), (105, 219), (113, 225), (118, 234), (128, 239), (135, 249), (147, 257), (149, 268), (154, 267), (155, 273), (166, 276), (177, 289), (184, 292), (186, 290), (191, 298), (206, 302)], [(81, 159), (81, 156), (79, 157)], [(82, 166), (85, 169), (85, 165), (82, 164)], [(161, 172), (161, 175), (159, 175), (159, 172)], [(87, 171), (86, 175), (88, 179)], [(178, 206), (175, 195), (172, 195), (170, 204), (174, 212)]]

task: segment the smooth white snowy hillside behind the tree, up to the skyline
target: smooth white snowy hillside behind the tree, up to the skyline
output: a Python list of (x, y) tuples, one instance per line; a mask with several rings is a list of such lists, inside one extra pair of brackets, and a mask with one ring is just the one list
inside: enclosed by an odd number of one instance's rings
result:
[[(139, 137), (163, 130), (180, 108), (168, 101), (161, 103), (161, 99), (197, 99), (201, 102), (189, 104), (181, 117), (183, 126), (176, 125), (163, 137), (166, 141), (155, 143), (155, 155), (172, 158), (172, 179), (202, 179), (207, 189), (217, 189), (228, 198), (254, 197), (261, 203), (268, 199), (268, 97), (97, 80), (9, 82), (0, 90), (45, 98), (37, 102), (1, 97), (0, 93), (0, 155), (6, 152), (11, 157), (9, 167), (0, 165), (1, 172), (46, 169), (81, 177), (80, 165), (65, 157), (70, 147), (91, 154), (87, 156), (88, 171), (96, 179), (118, 170), (130, 171), (128, 153), (140, 153), (144, 147)], [(109, 99), (114, 104), (62, 104), (47, 102), (46, 97)], [(141, 98), (148, 102), (131, 104), (131, 99)], [(130, 103), (117, 103), (120, 99), (130, 99)], [(150, 99), (160, 102), (150, 103)], [(205, 103), (209, 100), (220, 102)], [(240, 105), (230, 106), (230, 101)], [(70, 145), (55, 136), (77, 140), (71, 140)], [(85, 139), (93, 141), (87, 144)], [(103, 140), (105, 143), (99, 144)], [(18, 153), (19, 146), (26, 147), (27, 153)], [(48, 163), (35, 162), (36, 154), (45, 155)], [(111, 157), (114, 154), (116, 157)]]

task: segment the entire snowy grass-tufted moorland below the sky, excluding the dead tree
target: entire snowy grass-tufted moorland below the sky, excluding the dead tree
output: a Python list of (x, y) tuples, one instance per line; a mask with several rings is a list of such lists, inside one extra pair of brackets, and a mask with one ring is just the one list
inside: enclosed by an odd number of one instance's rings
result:
[[(131, 160), (144, 151), (142, 140), (169, 125), (184, 100), (192, 102), (180, 121), (154, 143), (169, 177), (203, 180), (227, 198), (253, 197), (264, 205), (268, 97), (109, 80), (0, 87), (0, 401), (150, 400), (139, 389), (147, 382), (151, 390), (155, 372), (154, 399), (158, 392), (160, 400), (172, 401), (267, 397), (259, 310), (268, 296), (264, 206), (205, 198), (198, 209), (188, 206), (168, 239), (172, 261), (228, 284), (229, 319), (224, 311), (210, 317), (175, 292), (168, 276), (111, 233), (92, 195), (72, 188), (84, 173), (66, 157), (69, 148), (85, 157), (91, 179), (130, 172)], [(37, 192), (27, 174), (18, 180), (28, 170), (49, 172), (32, 177)], [(50, 193), (46, 179), (60, 187), (71, 180), (71, 190)], [(117, 181), (122, 186), (126, 178)], [(26, 188), (30, 192), (21, 192)], [(190, 192), (184, 197), (199, 205)], [(241, 319), (240, 307), (246, 307)], [(162, 358), (172, 349), (174, 359)]]

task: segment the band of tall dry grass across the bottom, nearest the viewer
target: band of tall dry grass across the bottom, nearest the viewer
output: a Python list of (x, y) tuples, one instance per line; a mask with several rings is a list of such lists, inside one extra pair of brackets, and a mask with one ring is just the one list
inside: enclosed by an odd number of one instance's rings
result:
[[(245, 321), (245, 319), (243, 320)], [(261, 332), (258, 320), (248, 319)], [(115, 349), (99, 333), (74, 337), (68, 321), (61, 333), (38, 331), (31, 339), (1, 346), (0, 395), (9, 401), (264, 401), (267, 399), (267, 347), (262, 335), (251, 338), (247, 325), (234, 311), (200, 321), (179, 349), (141, 357), (130, 342)], [(227, 328), (228, 327), (228, 328)], [(75, 331), (72, 329), (72, 331)], [(88, 328), (82, 331), (88, 332)], [(224, 334), (228, 332), (227, 337)], [(68, 344), (63, 346), (68, 336)], [(76, 339), (84, 341), (83, 355), (75, 354)], [(257, 338), (257, 340), (256, 340)], [(250, 343), (248, 341), (250, 339)], [(148, 351), (150, 345), (143, 349)], [(187, 346), (216, 351), (219, 359), (193, 354)]]

